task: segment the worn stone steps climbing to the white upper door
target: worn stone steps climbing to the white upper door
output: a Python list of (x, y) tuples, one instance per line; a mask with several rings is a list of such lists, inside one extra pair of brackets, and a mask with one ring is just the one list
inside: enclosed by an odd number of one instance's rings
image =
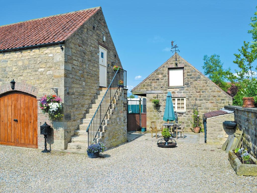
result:
[[(68, 143), (67, 151), (69, 152), (83, 152), (87, 150), (88, 147), (88, 134), (86, 132), (86, 129), (94, 116), (97, 107), (99, 106), (101, 100), (103, 99), (103, 96), (106, 92), (107, 88), (99, 88), (99, 91), (94, 95), (94, 99), (92, 99), (91, 104), (89, 104), (89, 108), (87, 109), (86, 114), (84, 115), (84, 118), (81, 119), (81, 124), (79, 125), (79, 128), (75, 130), (74, 136), (71, 137), (71, 142)], [(99, 139), (104, 136), (104, 131), (107, 130), (109, 119), (112, 116), (112, 112), (116, 107), (116, 104), (118, 103), (118, 100), (121, 98), (122, 91), (121, 89), (118, 89), (113, 102), (111, 104), (111, 107), (109, 108), (106, 117), (102, 124), (102, 131), (98, 132), (98, 137), (95, 138), (95, 143), (99, 142)]]

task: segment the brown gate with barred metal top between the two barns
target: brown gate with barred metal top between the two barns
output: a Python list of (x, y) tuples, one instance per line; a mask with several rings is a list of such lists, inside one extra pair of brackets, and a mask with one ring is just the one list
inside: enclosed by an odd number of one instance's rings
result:
[(139, 131), (141, 127), (146, 127), (146, 99), (127, 99), (127, 131)]

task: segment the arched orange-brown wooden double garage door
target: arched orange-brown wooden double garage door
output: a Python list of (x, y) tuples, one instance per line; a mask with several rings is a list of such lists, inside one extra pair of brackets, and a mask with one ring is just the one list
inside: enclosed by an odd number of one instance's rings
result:
[(35, 97), (18, 92), (1, 96), (0, 144), (37, 148), (37, 114)]

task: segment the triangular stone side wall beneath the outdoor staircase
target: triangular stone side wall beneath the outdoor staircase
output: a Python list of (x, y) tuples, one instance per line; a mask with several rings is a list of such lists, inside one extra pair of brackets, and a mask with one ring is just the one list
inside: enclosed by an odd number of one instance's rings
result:
[(107, 148), (127, 141), (127, 89), (121, 90), (121, 98), (112, 111), (104, 136), (100, 139), (100, 142), (103, 142)]

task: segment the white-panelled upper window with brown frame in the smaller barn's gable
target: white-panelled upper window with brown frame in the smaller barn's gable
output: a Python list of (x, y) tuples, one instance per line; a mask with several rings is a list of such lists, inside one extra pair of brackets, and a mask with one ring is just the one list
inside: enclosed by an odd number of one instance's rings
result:
[(168, 86), (184, 86), (184, 68), (170, 68), (168, 76)]

